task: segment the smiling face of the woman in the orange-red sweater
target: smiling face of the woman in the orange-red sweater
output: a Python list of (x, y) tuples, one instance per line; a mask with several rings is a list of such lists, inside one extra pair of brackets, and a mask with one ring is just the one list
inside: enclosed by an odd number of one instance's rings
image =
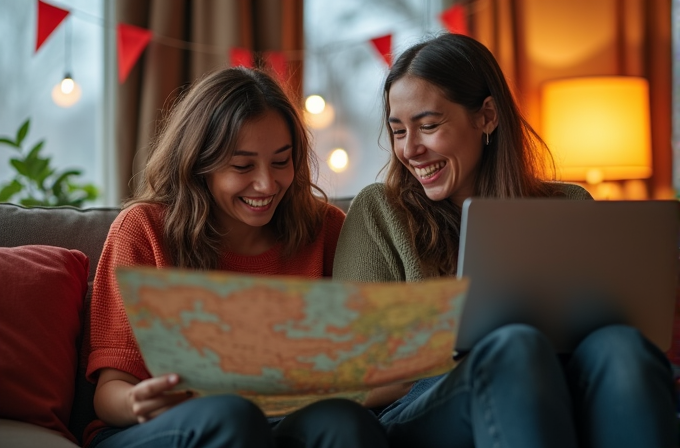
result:
[(220, 230), (231, 237), (264, 234), (293, 177), (293, 139), (283, 116), (269, 110), (247, 122), (234, 155), (206, 176)]

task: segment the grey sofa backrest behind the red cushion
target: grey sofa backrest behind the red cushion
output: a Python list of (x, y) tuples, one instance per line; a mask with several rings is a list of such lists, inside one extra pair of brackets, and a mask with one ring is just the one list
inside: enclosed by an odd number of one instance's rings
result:
[[(109, 227), (119, 213), (117, 208), (77, 209), (73, 207), (25, 208), (0, 204), (0, 247), (44, 244), (77, 249), (88, 256), (88, 293), (83, 304), (83, 329), (89, 328), (89, 305), (99, 256)], [(85, 334), (84, 331), (81, 334)], [(69, 430), (80, 441), (85, 426), (94, 420), (94, 385), (85, 379), (86, 359), (80, 360), (76, 374)]]

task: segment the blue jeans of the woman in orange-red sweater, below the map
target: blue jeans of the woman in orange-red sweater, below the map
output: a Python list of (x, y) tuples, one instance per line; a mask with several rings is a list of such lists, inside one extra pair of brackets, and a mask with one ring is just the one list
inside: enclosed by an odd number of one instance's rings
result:
[(108, 428), (91, 448), (383, 448), (377, 418), (349, 400), (313, 403), (272, 425), (252, 402), (236, 395), (186, 401), (128, 428)]

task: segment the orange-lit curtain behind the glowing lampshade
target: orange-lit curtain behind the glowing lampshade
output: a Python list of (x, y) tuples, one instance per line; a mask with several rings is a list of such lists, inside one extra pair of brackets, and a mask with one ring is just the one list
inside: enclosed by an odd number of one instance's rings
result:
[(462, 0), (473, 37), (496, 56), (539, 131), (549, 79), (632, 75), (650, 86), (650, 195), (673, 197), (671, 0)]

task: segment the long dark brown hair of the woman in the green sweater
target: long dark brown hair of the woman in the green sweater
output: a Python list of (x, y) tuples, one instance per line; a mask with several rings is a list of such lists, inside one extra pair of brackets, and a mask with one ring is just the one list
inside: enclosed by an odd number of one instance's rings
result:
[[(475, 196), (557, 194), (553, 185), (543, 181), (554, 178), (550, 152), (522, 117), (501, 68), (484, 45), (464, 35), (443, 34), (401, 54), (390, 69), (383, 90), (384, 120), (392, 145), (394, 135), (388, 122), (390, 88), (407, 75), (436, 86), (449, 101), (462, 105), (470, 114), (479, 111), (487, 97), (494, 99), (498, 126), (482, 151)], [(397, 159), (394, 150), (386, 168), (387, 198), (408, 226), (425, 275), (455, 274), (460, 207), (450, 200), (428, 199), (420, 182)], [(550, 175), (546, 176), (548, 172)]]

